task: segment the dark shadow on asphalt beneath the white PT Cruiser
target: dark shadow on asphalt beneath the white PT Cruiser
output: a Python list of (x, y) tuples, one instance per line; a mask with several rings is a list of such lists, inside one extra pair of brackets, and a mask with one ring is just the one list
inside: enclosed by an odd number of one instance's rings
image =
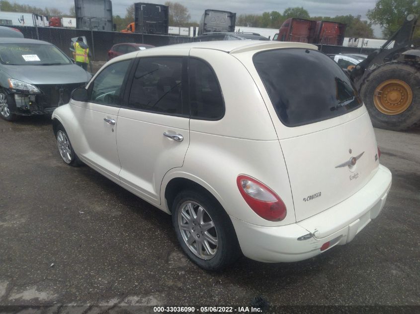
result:
[[(143, 226), (145, 228), (154, 229), (152, 232), (153, 234), (160, 234), (161, 241), (166, 242), (167, 247), (176, 248), (177, 251), (183, 254), (176, 239), (170, 215), (152, 204), (149, 204), (125, 188), (113, 183), (87, 166), (82, 166), (78, 172), (78, 175), (84, 177), (84, 180), (94, 183), (104, 194), (109, 195), (110, 199), (119, 202), (124, 206), (125, 210), (130, 211), (132, 215), (137, 216), (139, 221), (148, 222), (147, 225), (143, 224)], [(335, 249), (341, 251), (340, 248)], [(337, 252), (337, 254), (339, 254), (339, 252)], [(226, 281), (227, 279), (229, 279), (229, 281), (232, 280), (232, 283), (237, 282), (237, 278), (241, 277), (244, 280), (241, 283), (250, 286), (254, 286), (255, 282), (260, 281), (261, 276), (266, 278), (281, 278), (283, 284), (286, 284), (289, 282), (289, 280), (285, 280), (288, 277), (305, 277), (308, 273), (317, 273), (321, 271), (324, 266), (328, 265), (329, 260), (334, 259), (335, 255), (336, 254), (319, 255), (308, 260), (292, 263), (265, 263), (242, 256), (232, 266), (217, 272), (201, 269), (192, 261), (189, 261), (188, 268), (195, 268), (195, 271), (207, 274), (207, 276), (215, 275), (216, 277), (224, 278), (223, 281)]]

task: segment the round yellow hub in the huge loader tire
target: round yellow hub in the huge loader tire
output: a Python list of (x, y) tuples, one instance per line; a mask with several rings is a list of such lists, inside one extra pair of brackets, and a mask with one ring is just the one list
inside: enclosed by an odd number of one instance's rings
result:
[(399, 79), (389, 79), (376, 87), (373, 94), (376, 109), (385, 115), (398, 115), (410, 107), (413, 91), (409, 84)]

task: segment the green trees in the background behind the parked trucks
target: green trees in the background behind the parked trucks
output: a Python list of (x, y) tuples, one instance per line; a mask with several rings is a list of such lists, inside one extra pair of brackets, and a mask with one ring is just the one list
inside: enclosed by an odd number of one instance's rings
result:
[[(167, 1), (169, 6), (169, 25), (171, 26), (198, 26), (196, 21), (191, 21), (188, 8), (179, 2)], [(0, 0), (1, 11), (27, 12), (39, 15), (74, 17), (74, 5), (68, 12), (63, 12), (55, 7), (40, 8), (28, 4), (10, 3), (7, 0)], [(337, 15), (337, 16), (310, 16), (303, 7), (289, 7), (283, 13), (278, 11), (263, 12), (261, 14), (240, 14), (237, 18), (237, 26), (280, 28), (281, 24), (288, 18), (304, 18), (312, 20), (325, 20), (347, 24), (346, 37), (374, 38), (372, 24), (379, 24), (383, 27), (384, 38), (390, 37), (404, 22), (409, 13), (420, 15), (420, 1), (418, 0), (377, 0), (375, 7), (366, 13), (369, 21), (361, 20), (361, 16)], [(113, 16), (118, 31), (125, 29), (134, 21), (134, 3), (127, 7), (124, 17)]]

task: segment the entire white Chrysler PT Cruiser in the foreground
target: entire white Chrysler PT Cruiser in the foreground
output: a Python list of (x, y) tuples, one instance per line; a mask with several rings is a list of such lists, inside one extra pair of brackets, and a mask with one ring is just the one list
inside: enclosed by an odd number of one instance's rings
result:
[(183, 251), (205, 269), (241, 253), (291, 262), (346, 244), (391, 187), (350, 80), (309, 44), (123, 55), (52, 119), (67, 164), (83, 162), (171, 214)]

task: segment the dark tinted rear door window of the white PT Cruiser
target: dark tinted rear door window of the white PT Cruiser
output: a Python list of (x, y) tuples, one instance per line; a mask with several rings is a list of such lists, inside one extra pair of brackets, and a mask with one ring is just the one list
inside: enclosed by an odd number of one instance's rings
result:
[(141, 58), (128, 106), (169, 115), (182, 114), (182, 63), (181, 57)]

